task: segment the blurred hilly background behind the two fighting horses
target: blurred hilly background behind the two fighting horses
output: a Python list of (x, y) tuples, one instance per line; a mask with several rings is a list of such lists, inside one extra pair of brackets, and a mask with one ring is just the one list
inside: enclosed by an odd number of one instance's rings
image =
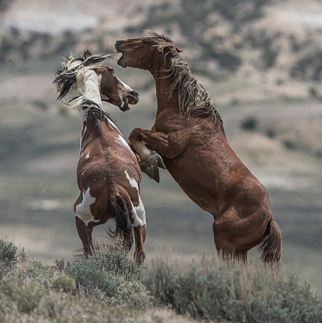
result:
[[(322, 1), (0, 0), (0, 222), (16, 244), (53, 261), (81, 243), (74, 225), (80, 118), (56, 102), (61, 55), (114, 50), (151, 29), (172, 37), (213, 96), (229, 143), (268, 190), (283, 262), (322, 287)], [(107, 62), (140, 94), (104, 105), (124, 137), (153, 125), (154, 81)], [(161, 171), (143, 176), (150, 257), (214, 252), (212, 217)], [(104, 235), (103, 228), (97, 228)], [(256, 253), (254, 253), (256, 256)]]

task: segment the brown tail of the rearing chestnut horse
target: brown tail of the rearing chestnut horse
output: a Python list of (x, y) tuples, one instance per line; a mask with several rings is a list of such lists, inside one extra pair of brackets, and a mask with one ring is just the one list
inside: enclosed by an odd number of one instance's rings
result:
[(271, 219), (267, 225), (265, 238), (258, 250), (263, 263), (277, 264), (279, 266), (282, 250), (282, 235), (278, 224)]

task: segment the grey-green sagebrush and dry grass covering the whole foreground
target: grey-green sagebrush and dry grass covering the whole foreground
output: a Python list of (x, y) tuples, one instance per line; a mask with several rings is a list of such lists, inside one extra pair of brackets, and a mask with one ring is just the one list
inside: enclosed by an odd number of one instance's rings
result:
[[(0, 242), (12, 249), (12, 243)], [(12, 255), (4, 258), (8, 263)], [(294, 274), (282, 275), (260, 262), (220, 262), (205, 253), (200, 262), (157, 259), (152, 266), (138, 267), (121, 247), (101, 248), (66, 266), (63, 261), (49, 266), (24, 256), (4, 268), (0, 317), (7, 322), (21, 317), (66, 323), (145, 321), (163, 308), (218, 323), (322, 320), (322, 300)]]

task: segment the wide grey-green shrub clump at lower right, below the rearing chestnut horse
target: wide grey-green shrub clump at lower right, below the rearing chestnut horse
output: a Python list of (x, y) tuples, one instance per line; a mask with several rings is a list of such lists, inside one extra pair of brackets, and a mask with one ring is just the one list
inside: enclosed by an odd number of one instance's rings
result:
[(153, 266), (145, 285), (156, 302), (194, 318), (247, 323), (322, 320), (321, 299), (294, 275), (285, 279), (262, 264), (228, 267), (193, 264), (182, 272), (169, 265)]

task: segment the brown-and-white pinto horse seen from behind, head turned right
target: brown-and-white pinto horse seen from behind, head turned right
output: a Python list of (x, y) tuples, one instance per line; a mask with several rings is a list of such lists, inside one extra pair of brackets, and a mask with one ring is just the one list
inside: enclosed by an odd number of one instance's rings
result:
[(93, 227), (114, 218), (116, 229), (109, 234), (122, 238), (128, 251), (135, 237), (134, 259), (145, 259), (145, 209), (140, 197), (141, 169), (132, 150), (117, 126), (103, 110), (102, 100), (129, 109), (128, 102), (139, 97), (119, 80), (108, 66), (98, 63), (110, 55), (66, 57), (63, 70), (58, 71), (54, 84), (58, 99), (67, 107), (79, 110), (82, 121), (77, 183), (80, 195), (75, 202), (76, 227), (84, 254), (93, 247)]

